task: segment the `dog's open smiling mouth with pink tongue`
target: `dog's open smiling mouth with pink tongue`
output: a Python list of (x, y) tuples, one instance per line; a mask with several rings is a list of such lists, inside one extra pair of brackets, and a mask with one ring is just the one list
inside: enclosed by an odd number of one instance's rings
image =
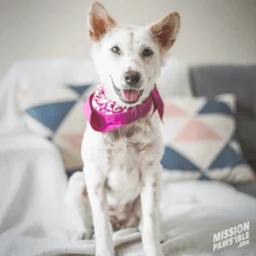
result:
[(134, 89), (122, 89), (120, 90), (118, 87), (115, 86), (113, 83), (113, 90), (117, 96), (119, 96), (120, 101), (124, 102), (125, 104), (134, 104), (139, 101), (140, 97), (143, 95), (143, 90), (134, 90)]

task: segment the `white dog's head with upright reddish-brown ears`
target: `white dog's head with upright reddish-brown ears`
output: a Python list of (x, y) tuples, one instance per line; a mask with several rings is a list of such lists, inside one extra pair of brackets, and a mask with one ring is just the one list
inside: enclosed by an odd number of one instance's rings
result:
[(119, 26), (101, 3), (94, 2), (89, 27), (92, 56), (108, 96), (123, 105), (143, 102), (177, 38), (179, 15), (171, 13), (151, 26)]

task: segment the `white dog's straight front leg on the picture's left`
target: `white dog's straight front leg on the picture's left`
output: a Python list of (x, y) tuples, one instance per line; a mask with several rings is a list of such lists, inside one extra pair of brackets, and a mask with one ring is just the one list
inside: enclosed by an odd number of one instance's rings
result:
[(88, 165), (86, 168), (89, 170), (89, 172), (85, 174), (85, 181), (93, 217), (96, 238), (96, 256), (114, 256), (113, 231), (107, 209), (106, 177), (94, 165)]

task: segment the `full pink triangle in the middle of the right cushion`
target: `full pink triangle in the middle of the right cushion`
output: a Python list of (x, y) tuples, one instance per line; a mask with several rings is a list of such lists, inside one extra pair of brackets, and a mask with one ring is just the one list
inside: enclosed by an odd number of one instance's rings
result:
[(191, 119), (174, 139), (175, 142), (203, 140), (218, 141), (222, 140), (222, 137), (198, 119)]

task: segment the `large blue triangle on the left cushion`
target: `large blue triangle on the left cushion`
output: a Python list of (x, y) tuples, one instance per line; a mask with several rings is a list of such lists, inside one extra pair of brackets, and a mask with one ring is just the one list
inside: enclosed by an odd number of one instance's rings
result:
[(31, 115), (32, 118), (37, 119), (38, 122), (48, 127), (51, 131), (56, 131), (74, 104), (75, 101), (44, 104), (28, 108), (26, 113)]

